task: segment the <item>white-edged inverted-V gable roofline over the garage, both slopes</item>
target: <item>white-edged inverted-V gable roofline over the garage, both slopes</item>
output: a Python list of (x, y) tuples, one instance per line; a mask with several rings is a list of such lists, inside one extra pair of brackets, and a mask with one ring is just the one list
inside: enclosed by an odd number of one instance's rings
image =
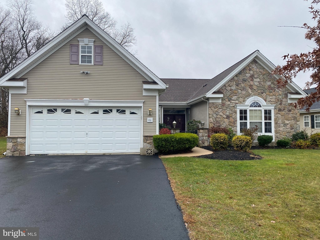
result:
[(162, 89), (166, 89), (167, 85), (144, 66), (138, 59), (136, 59), (130, 52), (114, 40), (108, 33), (103, 31), (97, 24), (83, 15), (79, 20), (74, 22), (71, 26), (66, 28), (60, 34), (55, 36), (49, 43), (45, 44), (38, 51), (33, 53), (30, 57), (22, 61), (18, 66), (13, 68), (10, 72), (0, 78), (0, 86), (7, 80), (12, 78), (20, 78), (30, 69), (50, 56), (53, 52), (66, 44), (70, 39), (75, 37), (79, 32), (85, 28), (91, 30), (97, 35), (105, 44), (107, 44), (113, 51), (120, 55), (126, 62), (135, 68), (142, 76), (150, 82), (156, 82)]

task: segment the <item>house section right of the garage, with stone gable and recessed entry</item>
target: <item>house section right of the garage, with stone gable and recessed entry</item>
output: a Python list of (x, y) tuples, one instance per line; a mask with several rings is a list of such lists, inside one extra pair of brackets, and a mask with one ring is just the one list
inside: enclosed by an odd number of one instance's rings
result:
[(299, 110), (290, 103), (307, 94), (293, 82), (278, 88), (274, 68), (257, 50), (210, 80), (162, 79), (169, 87), (159, 96), (161, 121), (175, 120), (185, 131), (188, 120), (200, 120), (237, 134), (257, 125), (274, 141), (289, 137), (300, 129)]

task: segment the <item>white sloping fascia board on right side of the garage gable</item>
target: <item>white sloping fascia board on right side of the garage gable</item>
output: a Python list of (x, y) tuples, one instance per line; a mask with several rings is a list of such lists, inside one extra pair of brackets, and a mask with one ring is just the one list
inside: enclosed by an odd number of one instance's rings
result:
[[(91, 20), (90, 20), (91, 21)], [(116, 53), (120, 53), (124, 56), (124, 60), (126, 60), (133, 68), (135, 68), (142, 76), (146, 77), (148, 81), (155, 81), (159, 84), (162, 89), (166, 88), (166, 84), (157, 77), (153, 72), (151, 72), (146, 66), (144, 66), (138, 59), (136, 59), (130, 52), (128, 52), (124, 47), (122, 47), (115, 39), (109, 36), (105, 31), (103, 31), (100, 27), (98, 27), (95, 23), (87, 22), (88, 26), (95, 32), (97, 32), (103, 40), (106, 40), (105, 44), (107, 44), (113, 51)], [(120, 55), (119, 54), (119, 55)], [(132, 65), (133, 64), (133, 65)], [(146, 76), (147, 75), (147, 76)]]

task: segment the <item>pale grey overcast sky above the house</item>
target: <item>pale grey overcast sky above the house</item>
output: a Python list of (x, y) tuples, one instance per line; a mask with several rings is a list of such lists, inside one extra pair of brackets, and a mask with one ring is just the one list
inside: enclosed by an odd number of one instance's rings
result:
[[(64, 0), (34, 0), (39, 20), (58, 29)], [(275, 65), (281, 56), (308, 52), (305, 29), (313, 24), (303, 0), (102, 0), (119, 26), (135, 28), (138, 59), (160, 78), (212, 78), (255, 50)], [(308, 75), (295, 79), (301, 88)]]

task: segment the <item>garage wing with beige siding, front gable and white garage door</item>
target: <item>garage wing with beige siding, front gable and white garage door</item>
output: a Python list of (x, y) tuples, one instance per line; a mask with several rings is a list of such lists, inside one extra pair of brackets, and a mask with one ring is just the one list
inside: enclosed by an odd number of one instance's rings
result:
[(9, 89), (7, 156), (139, 153), (159, 132), (167, 87), (85, 15), (0, 86)]

